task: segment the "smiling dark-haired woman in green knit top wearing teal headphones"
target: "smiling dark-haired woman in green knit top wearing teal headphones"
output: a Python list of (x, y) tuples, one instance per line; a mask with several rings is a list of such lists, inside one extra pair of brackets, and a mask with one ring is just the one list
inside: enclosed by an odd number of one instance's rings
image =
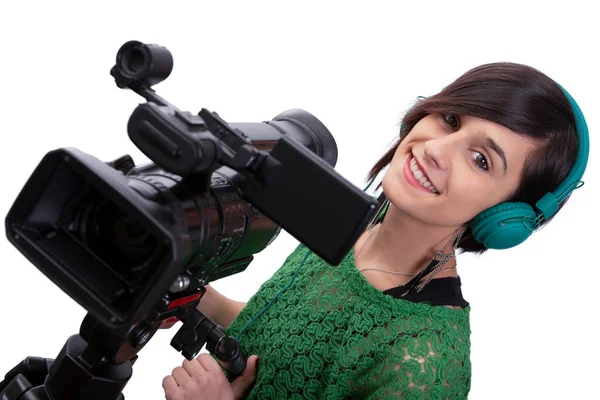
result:
[[(568, 94), (520, 64), (479, 66), (421, 98), (368, 175), (387, 168), (353, 251), (332, 267), (300, 245), (247, 304), (209, 287), (201, 311), (253, 356), (232, 384), (206, 354), (185, 361), (167, 398), (466, 398), (455, 253), (513, 247), (552, 218), (585, 169), (577, 129), (587, 137)], [(558, 202), (546, 195), (557, 188)]]

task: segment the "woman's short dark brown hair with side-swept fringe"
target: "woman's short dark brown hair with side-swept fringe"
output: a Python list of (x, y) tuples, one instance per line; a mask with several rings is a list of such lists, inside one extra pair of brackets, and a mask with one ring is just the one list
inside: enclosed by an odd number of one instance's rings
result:
[[(433, 113), (483, 118), (540, 142), (525, 161), (520, 186), (505, 201), (534, 206), (546, 192), (558, 187), (577, 157), (575, 117), (558, 84), (527, 65), (491, 63), (467, 71), (440, 93), (419, 100), (404, 115), (399, 137), (371, 168), (367, 181), (389, 165), (417, 122)], [(459, 249), (471, 253), (487, 250), (473, 238), (470, 227)]]

